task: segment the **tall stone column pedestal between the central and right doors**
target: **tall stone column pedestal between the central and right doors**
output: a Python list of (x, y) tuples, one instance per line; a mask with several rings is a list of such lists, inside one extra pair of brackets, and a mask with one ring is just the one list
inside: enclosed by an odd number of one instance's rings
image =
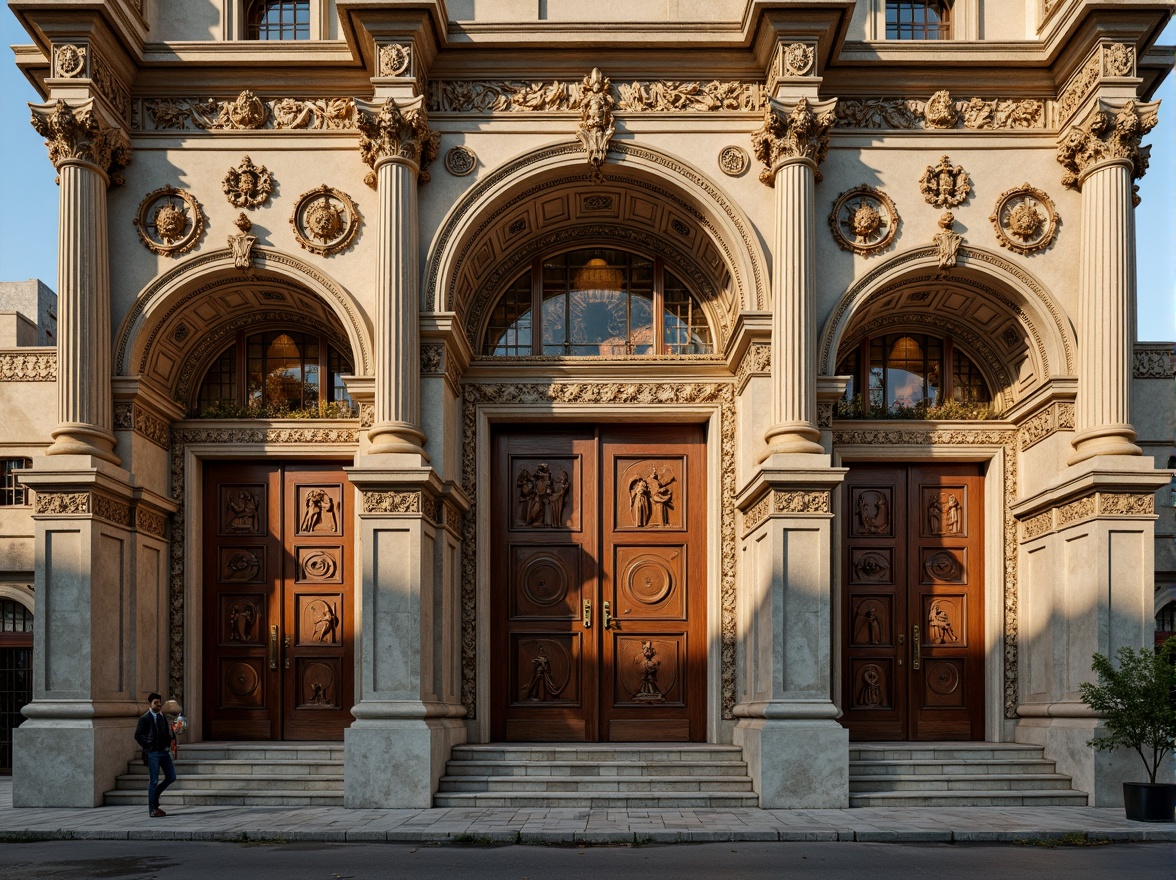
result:
[(769, 809), (849, 802), (849, 732), (837, 724), (831, 682), (831, 496), (844, 475), (766, 468), (736, 499), (743, 574), (734, 741)]

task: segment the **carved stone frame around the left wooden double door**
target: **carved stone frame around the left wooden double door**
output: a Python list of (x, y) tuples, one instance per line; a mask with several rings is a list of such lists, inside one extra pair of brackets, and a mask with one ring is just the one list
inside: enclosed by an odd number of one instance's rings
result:
[[(168, 560), (169, 585), (160, 585), (165, 595), (160, 596), (163, 607), (174, 611), (173, 600), (180, 599), (183, 616), (182, 635), (176, 641), (176, 629), (171, 626), (168, 639), (160, 640), (160, 668), (171, 669), (171, 687), (173, 694), (183, 706), (188, 718), (188, 742), (200, 742), (203, 739), (203, 553), (186, 552), (203, 548), (203, 475), (205, 461), (338, 461), (352, 465), (359, 448), (359, 422), (332, 421), (308, 427), (305, 421), (282, 422), (241, 422), (241, 421), (183, 421), (173, 425), (171, 460), (173, 464), (171, 482), (173, 498), (180, 502), (182, 524), (173, 521), (171, 540), (171, 559)], [(327, 434), (322, 432), (326, 431)], [(263, 440), (256, 440), (258, 435)], [(227, 435), (227, 436), (226, 436)], [(233, 439), (233, 436), (240, 439)], [(319, 439), (315, 439), (319, 438)], [(179, 464), (179, 473), (175, 465)], [(179, 478), (179, 479), (178, 479)], [(358, 501), (358, 491), (352, 486)], [(179, 492), (179, 496), (176, 496)], [(358, 505), (352, 504), (352, 528), (359, 540)], [(180, 526), (179, 528), (176, 526)], [(356, 547), (356, 558), (359, 547)], [(176, 560), (182, 561), (182, 568), (176, 572)], [(362, 618), (360, 608), (360, 589), (354, 591), (352, 614), (355, 621), (355, 694), (360, 700), (360, 658), (362, 640)], [(195, 613), (191, 613), (195, 609)], [(171, 656), (166, 654), (168, 647)], [(176, 668), (179, 667), (179, 668)], [(176, 684), (180, 688), (176, 688)]]

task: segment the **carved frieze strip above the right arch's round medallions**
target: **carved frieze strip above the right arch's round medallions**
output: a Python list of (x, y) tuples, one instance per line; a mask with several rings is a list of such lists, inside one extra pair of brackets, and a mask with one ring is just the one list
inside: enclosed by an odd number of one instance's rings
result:
[(838, 128), (896, 131), (970, 128), (1009, 131), (1045, 127), (1045, 102), (1017, 98), (956, 101), (946, 89), (927, 101), (910, 98), (842, 98)]

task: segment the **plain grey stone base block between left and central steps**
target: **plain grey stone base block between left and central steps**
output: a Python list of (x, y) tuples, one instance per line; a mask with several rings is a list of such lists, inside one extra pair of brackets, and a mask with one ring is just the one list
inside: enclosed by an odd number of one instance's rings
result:
[(454, 746), (459, 718), (363, 719), (343, 733), (343, 806), (428, 809)]

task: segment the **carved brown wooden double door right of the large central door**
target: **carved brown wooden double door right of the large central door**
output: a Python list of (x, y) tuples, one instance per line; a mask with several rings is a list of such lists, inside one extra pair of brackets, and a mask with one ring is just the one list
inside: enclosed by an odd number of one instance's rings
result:
[(851, 465), (842, 724), (851, 740), (984, 738), (978, 465)]

